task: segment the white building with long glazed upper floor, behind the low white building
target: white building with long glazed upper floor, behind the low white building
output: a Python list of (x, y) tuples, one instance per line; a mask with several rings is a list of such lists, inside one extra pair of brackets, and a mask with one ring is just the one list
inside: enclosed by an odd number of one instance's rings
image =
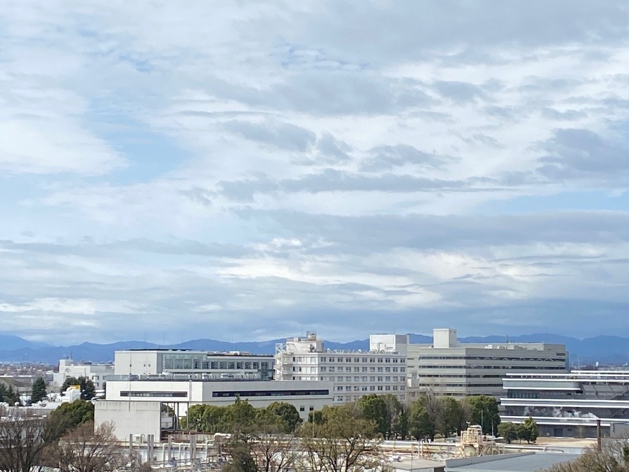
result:
[(273, 355), (186, 349), (131, 349), (115, 352), (115, 375), (154, 376), (208, 373), (229, 378), (273, 378)]

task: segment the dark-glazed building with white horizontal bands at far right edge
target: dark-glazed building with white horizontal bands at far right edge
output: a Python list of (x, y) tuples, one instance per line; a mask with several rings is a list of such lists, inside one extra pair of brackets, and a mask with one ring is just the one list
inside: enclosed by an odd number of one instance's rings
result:
[(598, 421), (604, 435), (629, 422), (629, 371), (507, 373), (503, 389), (503, 422), (533, 417), (540, 436), (593, 438)]

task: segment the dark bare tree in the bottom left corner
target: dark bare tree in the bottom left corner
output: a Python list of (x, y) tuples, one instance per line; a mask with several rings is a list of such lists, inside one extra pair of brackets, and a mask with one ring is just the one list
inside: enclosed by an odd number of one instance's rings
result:
[(33, 472), (46, 447), (45, 420), (24, 408), (0, 407), (0, 471)]

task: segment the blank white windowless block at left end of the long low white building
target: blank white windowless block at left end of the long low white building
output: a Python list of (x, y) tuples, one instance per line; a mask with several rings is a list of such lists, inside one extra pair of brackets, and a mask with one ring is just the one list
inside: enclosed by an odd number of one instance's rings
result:
[(161, 403), (159, 401), (96, 401), (94, 426), (109, 422), (119, 441), (129, 441), (129, 434), (153, 434), (159, 441), (161, 434)]

